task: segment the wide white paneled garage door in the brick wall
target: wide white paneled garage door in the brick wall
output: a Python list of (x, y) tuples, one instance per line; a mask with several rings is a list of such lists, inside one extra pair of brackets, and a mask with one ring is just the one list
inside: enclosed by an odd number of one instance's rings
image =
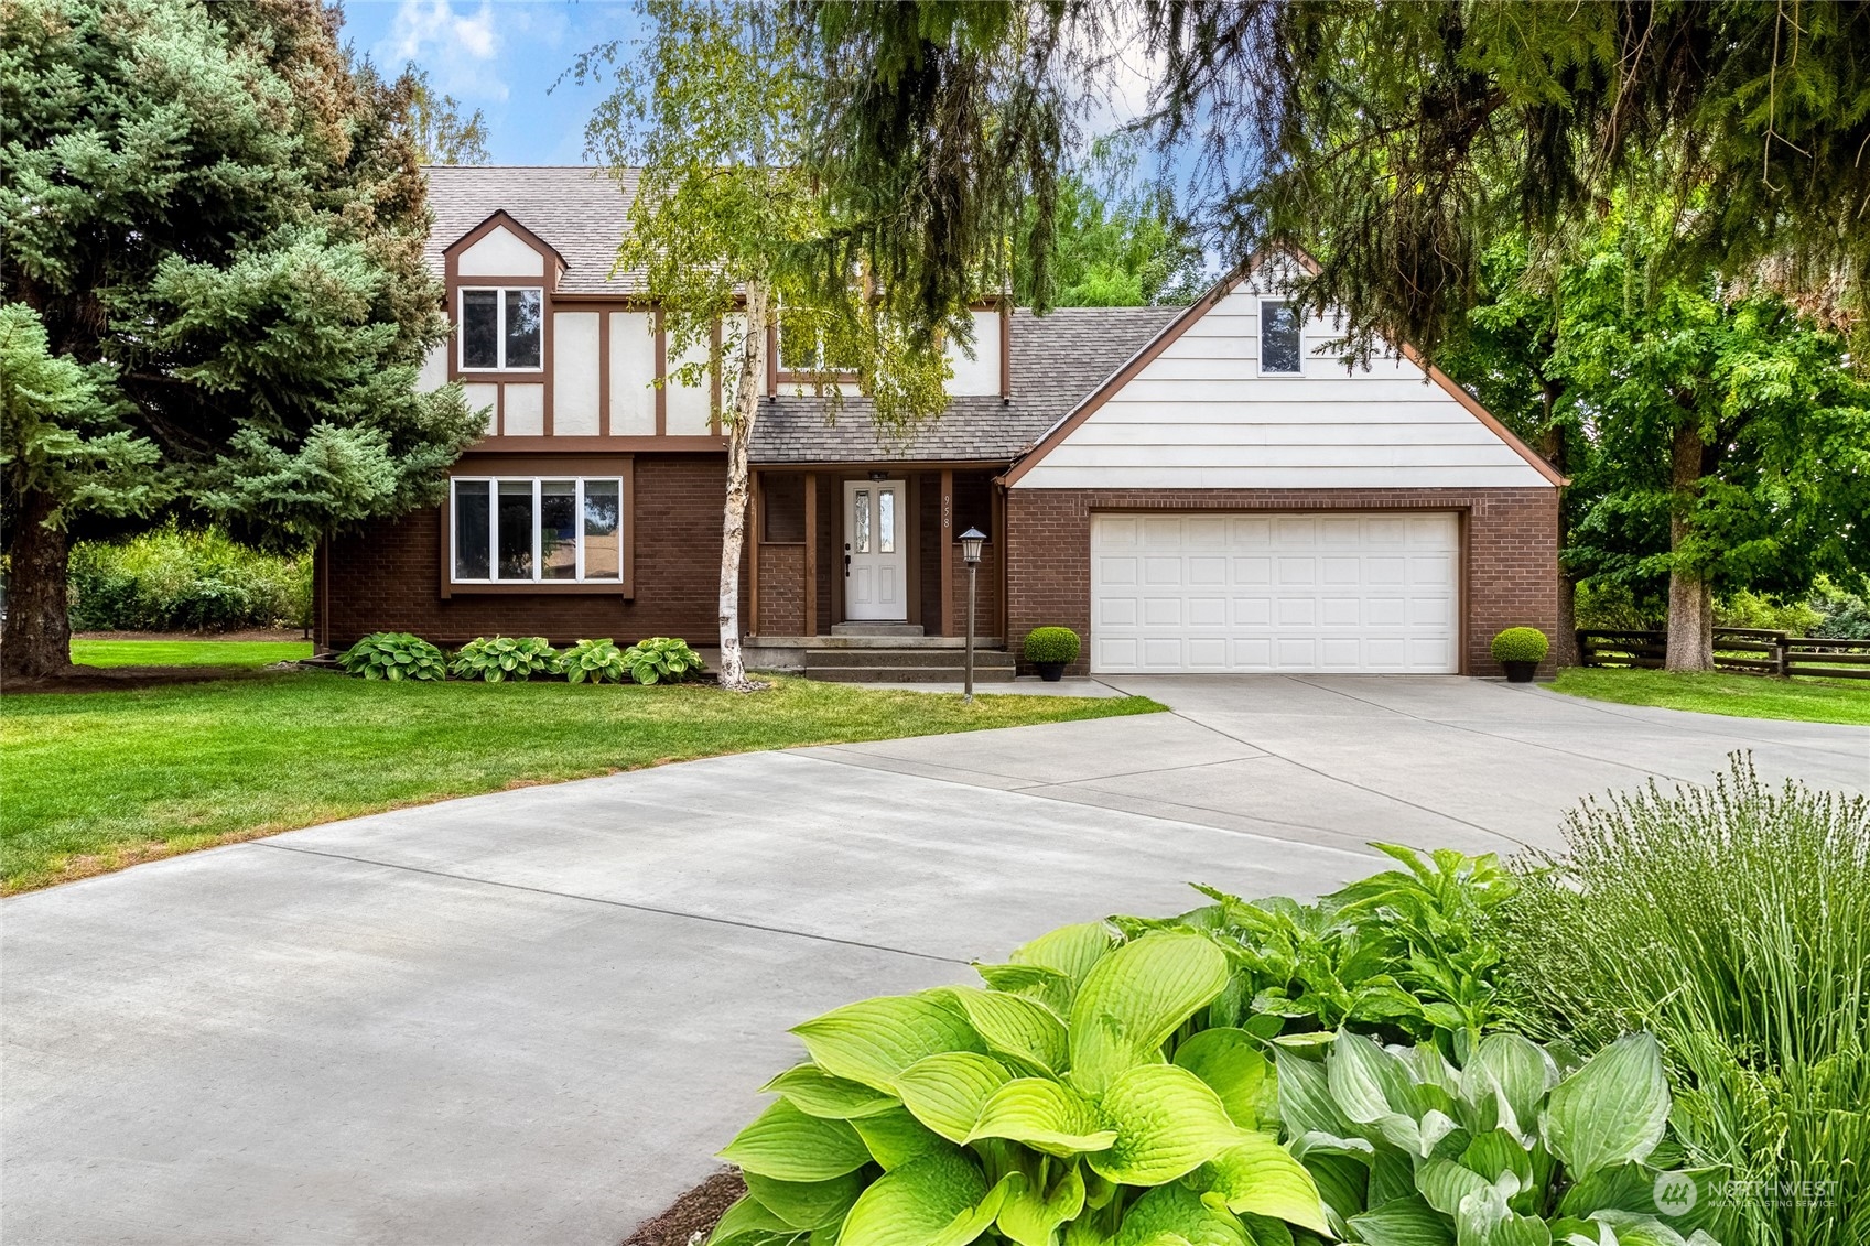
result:
[(1453, 514), (1098, 514), (1094, 672), (1457, 670)]

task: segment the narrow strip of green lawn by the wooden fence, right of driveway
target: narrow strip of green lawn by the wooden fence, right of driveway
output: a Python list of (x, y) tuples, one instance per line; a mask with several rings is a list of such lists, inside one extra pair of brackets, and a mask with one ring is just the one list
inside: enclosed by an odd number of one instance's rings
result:
[(1694, 709), (1737, 718), (1870, 724), (1870, 679), (1771, 679), (1763, 675), (1685, 675), (1666, 670), (1571, 666), (1558, 672), (1560, 692), (1623, 705)]

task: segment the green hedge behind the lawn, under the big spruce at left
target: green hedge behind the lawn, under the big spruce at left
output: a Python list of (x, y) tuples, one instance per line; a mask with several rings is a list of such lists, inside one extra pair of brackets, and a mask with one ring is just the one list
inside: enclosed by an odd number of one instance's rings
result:
[(219, 529), (176, 524), (71, 550), (71, 627), (79, 630), (234, 630), (303, 627), (312, 559), (247, 548)]

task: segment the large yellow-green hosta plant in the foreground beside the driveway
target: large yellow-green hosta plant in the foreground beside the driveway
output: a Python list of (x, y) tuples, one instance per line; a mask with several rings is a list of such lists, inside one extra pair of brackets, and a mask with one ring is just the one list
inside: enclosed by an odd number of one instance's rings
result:
[(795, 1027), (812, 1059), (722, 1152), (748, 1195), (711, 1242), (1328, 1239), (1260, 1042), (1197, 1029), (1232, 977), (1219, 943), (1066, 926), (980, 973)]

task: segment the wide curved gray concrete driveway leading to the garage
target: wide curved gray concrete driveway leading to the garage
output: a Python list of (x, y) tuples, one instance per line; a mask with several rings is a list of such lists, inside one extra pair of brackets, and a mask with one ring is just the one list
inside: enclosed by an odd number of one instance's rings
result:
[(669, 765), (21, 896), (9, 1242), (615, 1242), (860, 995), (1051, 926), (1318, 892), (1365, 840), (1552, 846), (1578, 797), (1864, 791), (1870, 730), (1472, 679), (1118, 679), (1174, 713)]

